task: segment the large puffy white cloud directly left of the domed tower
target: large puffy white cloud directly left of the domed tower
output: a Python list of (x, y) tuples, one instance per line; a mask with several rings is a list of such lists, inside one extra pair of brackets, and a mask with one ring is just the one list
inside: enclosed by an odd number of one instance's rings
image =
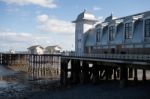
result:
[(49, 18), (45, 14), (37, 16), (37, 21), (39, 22), (39, 28), (47, 33), (74, 33), (74, 25), (69, 21)]

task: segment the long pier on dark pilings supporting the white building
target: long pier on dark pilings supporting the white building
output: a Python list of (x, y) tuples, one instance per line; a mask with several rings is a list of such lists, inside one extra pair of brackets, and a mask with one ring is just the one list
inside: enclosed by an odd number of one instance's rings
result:
[[(125, 86), (129, 79), (138, 80), (141, 69), (146, 81), (146, 70), (150, 70), (150, 55), (129, 54), (0, 54), (0, 64), (28, 67), (33, 77), (51, 73), (59, 76), (61, 85), (98, 84), (101, 81), (118, 80)], [(53, 68), (52, 68), (53, 67)], [(37, 72), (38, 71), (38, 72)]]

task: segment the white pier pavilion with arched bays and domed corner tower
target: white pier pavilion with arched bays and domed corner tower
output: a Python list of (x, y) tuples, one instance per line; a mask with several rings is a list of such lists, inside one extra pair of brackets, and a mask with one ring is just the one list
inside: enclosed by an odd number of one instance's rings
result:
[(122, 18), (111, 14), (98, 24), (94, 15), (84, 11), (73, 22), (78, 54), (150, 54), (150, 11)]

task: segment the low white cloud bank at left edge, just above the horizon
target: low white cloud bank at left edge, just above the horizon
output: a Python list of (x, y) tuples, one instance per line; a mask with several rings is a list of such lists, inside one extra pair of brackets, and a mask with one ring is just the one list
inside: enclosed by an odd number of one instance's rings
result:
[(40, 44), (48, 39), (46, 36), (33, 35), (31, 33), (16, 33), (0, 30), (0, 51), (8, 51), (10, 48), (16, 50), (27, 50), (31, 45)]

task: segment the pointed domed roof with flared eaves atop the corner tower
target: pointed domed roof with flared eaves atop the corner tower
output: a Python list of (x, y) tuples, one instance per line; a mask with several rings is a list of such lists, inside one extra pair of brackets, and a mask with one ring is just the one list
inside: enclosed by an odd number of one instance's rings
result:
[(75, 23), (75, 22), (83, 21), (83, 20), (89, 20), (89, 21), (94, 21), (94, 22), (97, 21), (96, 18), (95, 18), (95, 16), (93, 14), (91, 14), (91, 13), (87, 12), (86, 10), (84, 10), (82, 13), (80, 13), (78, 15), (78, 17), (76, 18), (76, 20), (73, 21), (73, 22)]

